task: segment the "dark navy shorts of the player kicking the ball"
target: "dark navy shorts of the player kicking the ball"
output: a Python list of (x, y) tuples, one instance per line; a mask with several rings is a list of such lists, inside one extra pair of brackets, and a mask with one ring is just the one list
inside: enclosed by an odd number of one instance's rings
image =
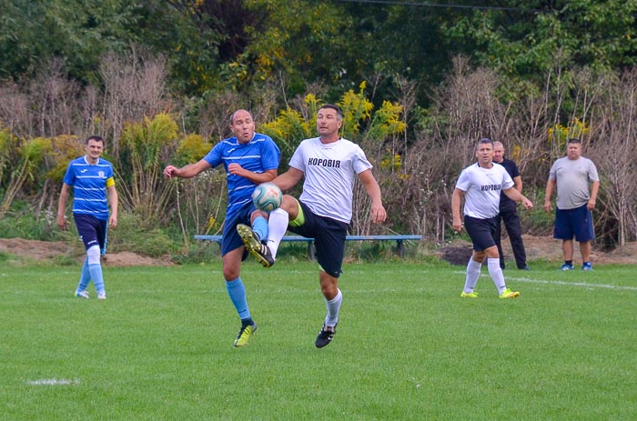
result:
[(329, 276), (339, 277), (343, 273), (348, 224), (327, 216), (315, 215), (303, 202), (298, 203), (303, 210), (305, 223), (302, 226), (288, 226), (288, 230), (299, 236), (314, 238), (320, 267)]

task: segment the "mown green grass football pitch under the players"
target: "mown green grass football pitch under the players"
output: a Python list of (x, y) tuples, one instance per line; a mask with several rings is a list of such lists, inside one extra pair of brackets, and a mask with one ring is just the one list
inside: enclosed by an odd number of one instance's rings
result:
[(0, 419), (635, 419), (637, 267), (345, 266), (323, 349), (317, 266), (250, 262), (258, 333), (220, 262), (106, 268), (108, 299), (72, 297), (79, 266), (0, 267)]

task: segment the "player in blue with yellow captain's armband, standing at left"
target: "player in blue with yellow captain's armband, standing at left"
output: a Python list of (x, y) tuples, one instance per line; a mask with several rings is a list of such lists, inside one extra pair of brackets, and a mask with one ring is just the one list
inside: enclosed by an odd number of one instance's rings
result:
[(86, 155), (71, 161), (66, 169), (57, 206), (57, 226), (66, 230), (66, 201), (69, 188), (73, 185), (73, 217), (76, 220), (77, 233), (86, 248), (86, 259), (76, 296), (88, 298), (86, 287), (93, 279), (97, 298), (102, 300), (106, 299), (106, 288), (100, 256), (106, 254), (107, 228), (117, 226), (117, 191), (113, 180), (113, 165), (100, 157), (103, 152), (104, 139), (96, 135), (86, 139)]

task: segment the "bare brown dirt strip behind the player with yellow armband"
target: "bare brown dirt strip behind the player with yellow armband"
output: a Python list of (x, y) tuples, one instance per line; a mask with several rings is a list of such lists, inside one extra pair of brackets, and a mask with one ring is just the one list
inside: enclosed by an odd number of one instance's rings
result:
[[(84, 250), (76, 250), (62, 241), (23, 240), (22, 238), (0, 238), (0, 252), (24, 257), (35, 261), (55, 260), (67, 257), (82, 263)], [(102, 260), (105, 266), (169, 266), (169, 258), (155, 259), (137, 255), (136, 253), (108, 253)]]

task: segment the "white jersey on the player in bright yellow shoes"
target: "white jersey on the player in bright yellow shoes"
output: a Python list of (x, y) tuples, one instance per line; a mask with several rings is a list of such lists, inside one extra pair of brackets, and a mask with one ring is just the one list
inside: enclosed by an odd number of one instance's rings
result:
[(456, 188), (465, 192), (464, 215), (488, 219), (500, 212), (500, 194), (511, 188), (513, 180), (502, 165), (482, 168), (469, 165), (460, 173)]

